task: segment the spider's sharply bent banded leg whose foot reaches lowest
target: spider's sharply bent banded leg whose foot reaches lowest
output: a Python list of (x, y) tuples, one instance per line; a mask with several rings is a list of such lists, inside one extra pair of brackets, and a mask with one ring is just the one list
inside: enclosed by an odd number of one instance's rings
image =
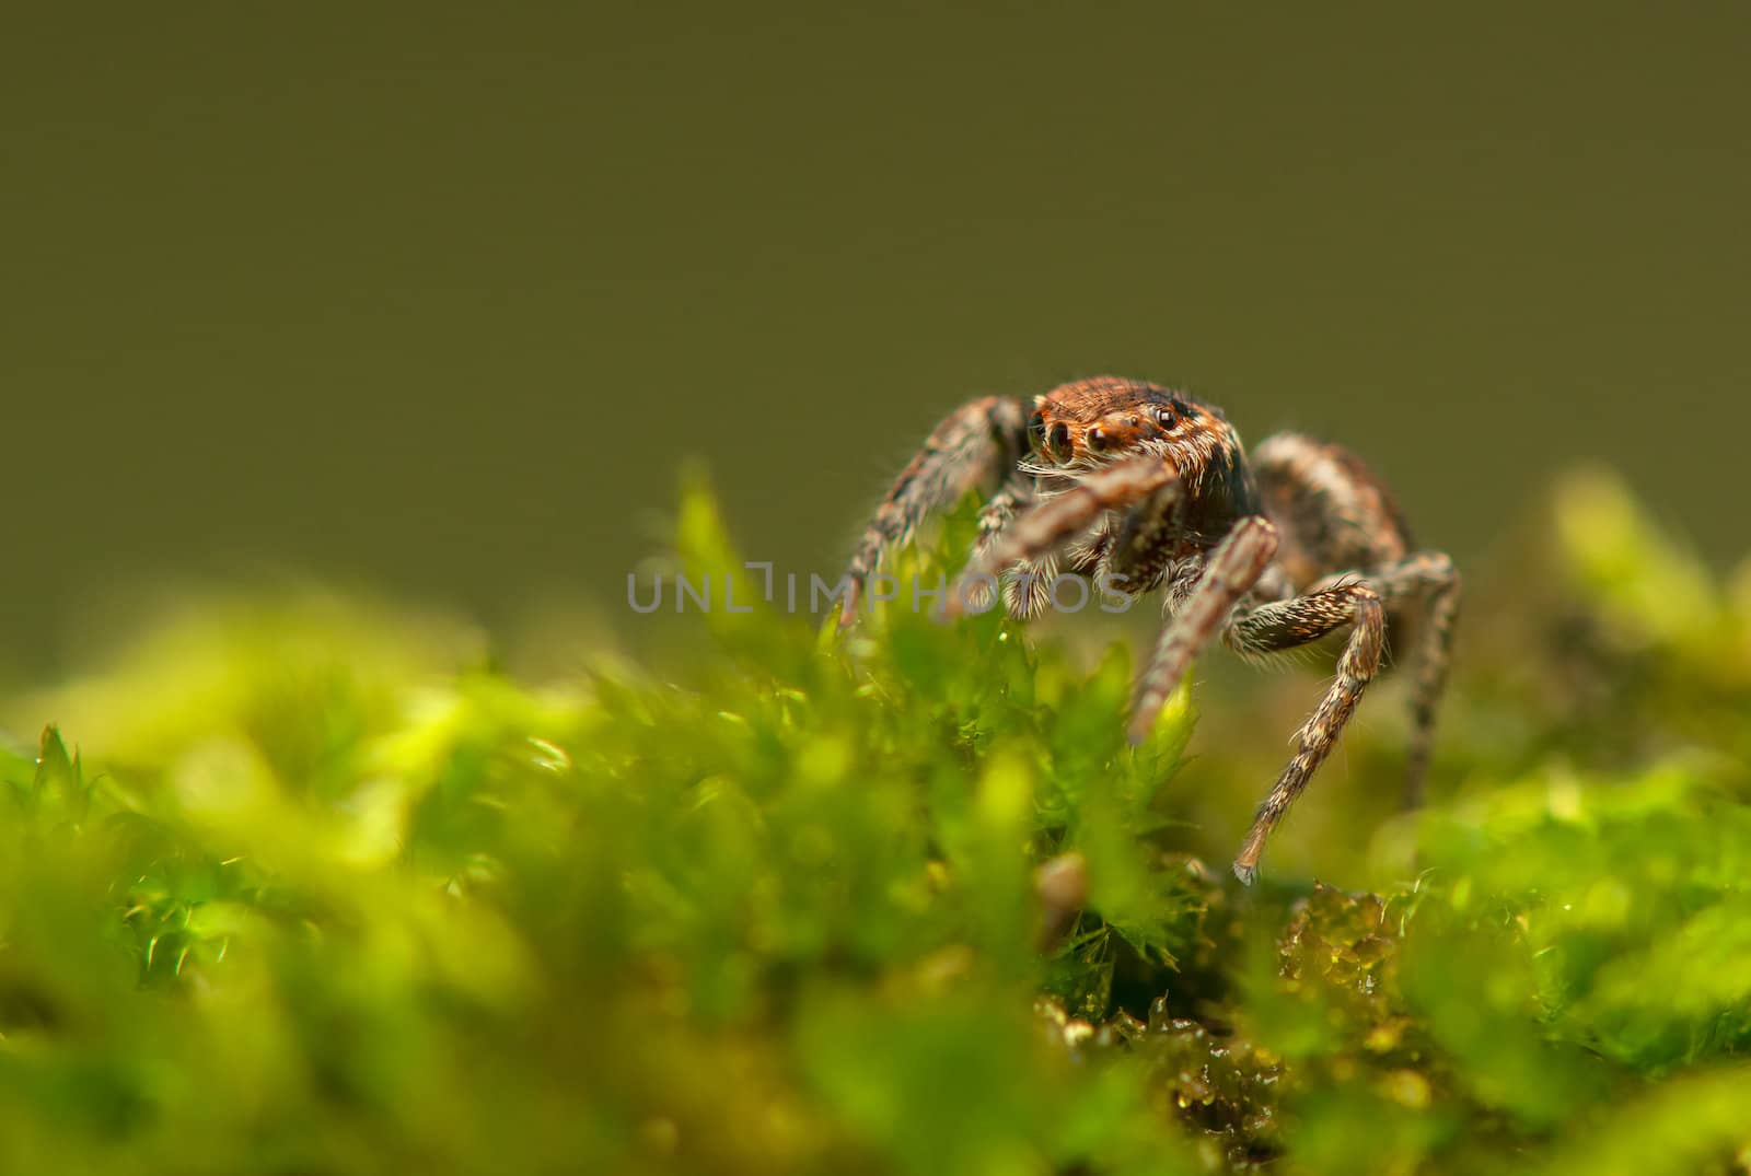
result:
[(1234, 875), (1252, 884), (1259, 872), (1259, 858), (1271, 830), (1289, 812), (1308, 779), (1326, 761), (1338, 744), (1362, 691), (1380, 670), (1385, 649), (1387, 614), (1380, 593), (1362, 583), (1343, 583), (1322, 592), (1311, 592), (1292, 600), (1266, 604), (1236, 618), (1227, 644), (1240, 653), (1273, 653), (1292, 649), (1326, 634), (1350, 625), (1350, 640), (1338, 658), (1338, 677), (1326, 691), (1319, 707), (1296, 732), (1296, 754), (1283, 766), (1276, 784), (1259, 805), (1252, 830), (1234, 858)]

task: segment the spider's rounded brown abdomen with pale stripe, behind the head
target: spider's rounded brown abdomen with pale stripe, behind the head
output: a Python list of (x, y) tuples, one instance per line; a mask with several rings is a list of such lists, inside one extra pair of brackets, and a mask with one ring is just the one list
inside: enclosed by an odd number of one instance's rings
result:
[(1264, 514), (1276, 523), (1276, 565), (1301, 592), (1334, 572), (1366, 572), (1413, 550), (1385, 483), (1348, 450), (1292, 432), (1252, 453)]

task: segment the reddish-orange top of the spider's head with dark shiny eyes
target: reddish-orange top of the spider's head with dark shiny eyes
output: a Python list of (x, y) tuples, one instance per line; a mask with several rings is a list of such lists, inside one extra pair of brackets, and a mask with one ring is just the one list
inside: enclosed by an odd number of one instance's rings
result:
[(1156, 453), (1198, 485), (1212, 467), (1241, 464), (1240, 434), (1210, 404), (1140, 380), (1094, 376), (1065, 383), (1033, 402), (1028, 469), (1075, 476), (1115, 460)]

